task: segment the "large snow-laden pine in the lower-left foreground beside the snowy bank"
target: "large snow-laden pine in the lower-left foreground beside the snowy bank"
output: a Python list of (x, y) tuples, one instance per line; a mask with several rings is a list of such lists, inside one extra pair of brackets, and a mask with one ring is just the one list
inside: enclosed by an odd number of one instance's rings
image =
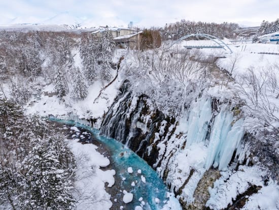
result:
[(21, 168), (25, 174), (19, 195), (21, 209), (71, 209), (74, 199), (72, 183), (61, 168), (57, 151), (49, 141), (39, 140), (24, 160)]

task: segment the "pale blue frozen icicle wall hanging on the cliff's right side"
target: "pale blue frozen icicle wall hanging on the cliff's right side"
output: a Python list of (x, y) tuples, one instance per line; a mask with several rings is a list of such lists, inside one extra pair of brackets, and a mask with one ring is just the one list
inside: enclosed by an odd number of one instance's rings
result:
[(228, 104), (220, 105), (220, 112), (214, 117), (211, 102), (210, 97), (193, 102), (188, 115), (181, 120), (180, 129), (187, 132), (186, 148), (199, 142), (207, 146), (206, 170), (212, 165), (222, 170), (240, 145), (244, 134), (243, 119), (237, 119)]

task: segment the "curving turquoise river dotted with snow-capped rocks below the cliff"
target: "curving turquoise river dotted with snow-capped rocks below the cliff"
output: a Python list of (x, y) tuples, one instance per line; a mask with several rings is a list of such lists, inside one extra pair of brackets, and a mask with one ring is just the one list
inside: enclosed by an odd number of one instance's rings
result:
[[(106, 191), (111, 194), (113, 206), (111, 209), (134, 209), (135, 206), (141, 204), (143, 209), (181, 209), (179, 201), (169, 193), (166, 185), (158, 176), (156, 171), (150, 167), (145, 160), (138, 157), (133, 151), (125, 147), (122, 143), (113, 138), (99, 135), (99, 131), (89, 126), (85, 126), (74, 121), (66, 121), (56, 118), (49, 118), (51, 121), (61, 123), (68, 126), (76, 126), (79, 129), (85, 129), (93, 135), (95, 144), (102, 145), (102, 150), (106, 151), (106, 156), (110, 159), (110, 166), (116, 171), (115, 185)], [(87, 139), (83, 139), (86, 141)], [(93, 143), (94, 143), (93, 141)], [(128, 172), (131, 167), (133, 172)], [(141, 170), (141, 173), (138, 173)], [(146, 179), (146, 182), (144, 182)], [(132, 184), (134, 183), (134, 184)], [(122, 201), (123, 190), (133, 194), (133, 200), (125, 204)], [(169, 199), (170, 197), (170, 199)], [(141, 199), (140, 199), (141, 198)], [(114, 200), (117, 199), (117, 202)], [(142, 200), (142, 201), (139, 201)]]

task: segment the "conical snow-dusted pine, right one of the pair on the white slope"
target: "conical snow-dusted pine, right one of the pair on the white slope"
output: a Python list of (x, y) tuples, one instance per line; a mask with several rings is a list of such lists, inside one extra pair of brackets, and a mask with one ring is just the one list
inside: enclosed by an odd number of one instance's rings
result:
[(76, 69), (76, 73), (74, 75), (74, 86), (73, 91), (71, 93), (73, 98), (76, 99), (84, 99), (88, 94), (87, 85), (85, 83), (85, 79), (79, 68)]

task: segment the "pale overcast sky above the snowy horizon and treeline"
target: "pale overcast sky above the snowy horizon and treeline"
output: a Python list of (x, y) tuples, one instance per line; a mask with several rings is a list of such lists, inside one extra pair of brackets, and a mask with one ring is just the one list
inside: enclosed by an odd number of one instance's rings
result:
[(0, 0), (0, 24), (51, 19), (57, 24), (127, 26), (133, 21), (138, 26), (163, 26), (185, 19), (255, 26), (276, 18), (279, 0)]

